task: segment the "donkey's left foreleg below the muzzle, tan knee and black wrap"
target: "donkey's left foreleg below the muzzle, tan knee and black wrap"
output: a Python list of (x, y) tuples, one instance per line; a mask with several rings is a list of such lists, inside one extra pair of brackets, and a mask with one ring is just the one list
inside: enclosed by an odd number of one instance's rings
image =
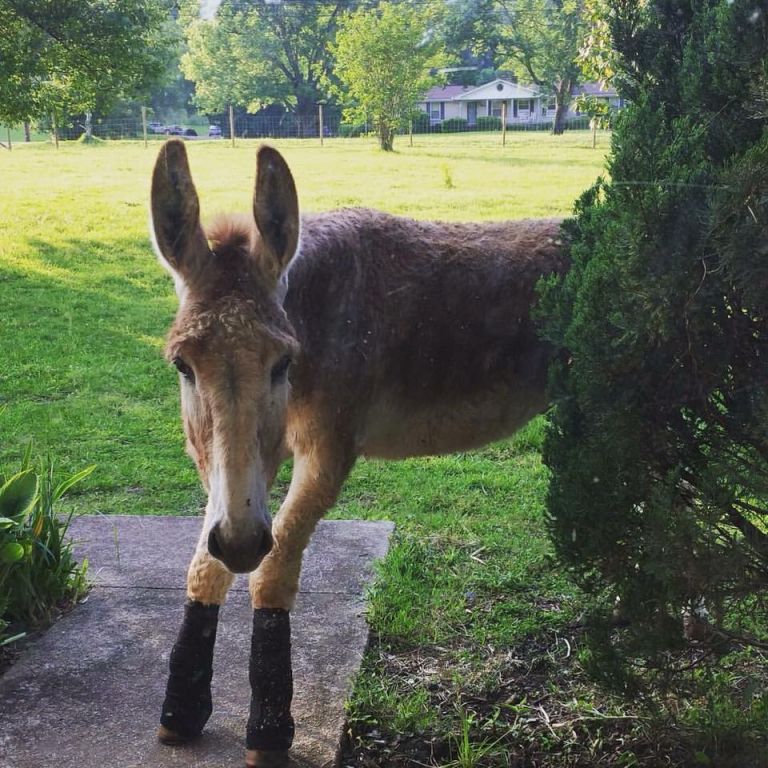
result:
[(201, 537), (187, 573), (184, 619), (171, 650), (170, 674), (158, 738), (178, 744), (202, 733), (213, 710), (211, 679), (219, 606), (233, 575), (205, 548)]

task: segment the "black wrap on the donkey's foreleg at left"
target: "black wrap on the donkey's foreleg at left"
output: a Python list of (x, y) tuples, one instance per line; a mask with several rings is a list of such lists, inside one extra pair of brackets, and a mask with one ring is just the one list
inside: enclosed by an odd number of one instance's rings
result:
[(188, 600), (171, 650), (171, 673), (160, 722), (182, 738), (200, 735), (213, 710), (211, 678), (219, 606)]

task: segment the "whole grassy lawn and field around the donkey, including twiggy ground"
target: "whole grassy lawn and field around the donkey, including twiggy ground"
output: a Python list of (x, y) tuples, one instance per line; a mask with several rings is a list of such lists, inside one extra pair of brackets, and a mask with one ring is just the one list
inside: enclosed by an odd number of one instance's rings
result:
[[(567, 214), (607, 143), (521, 133), (502, 150), (498, 134), (434, 136), (386, 155), (368, 140), (276, 142), (306, 210), (452, 220)], [(250, 209), (255, 147), (189, 145), (205, 215)], [(0, 152), (0, 468), (30, 440), (62, 473), (95, 463), (77, 511), (194, 514), (203, 503), (161, 354), (175, 298), (147, 238), (155, 152)], [(545, 534), (542, 434), (539, 420), (471, 454), (358, 463), (332, 514), (390, 519), (398, 533), (371, 593), (374, 642), (343, 764), (768, 765), (754, 727), (765, 708), (745, 715), (726, 692), (649, 718), (584, 678), (583, 606)]]

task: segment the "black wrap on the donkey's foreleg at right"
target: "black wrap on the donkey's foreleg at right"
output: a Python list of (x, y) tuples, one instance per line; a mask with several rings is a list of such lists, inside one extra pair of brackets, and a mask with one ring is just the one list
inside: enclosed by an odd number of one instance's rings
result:
[(293, 743), (293, 673), (288, 611), (256, 608), (251, 640), (251, 714), (248, 749), (284, 751)]

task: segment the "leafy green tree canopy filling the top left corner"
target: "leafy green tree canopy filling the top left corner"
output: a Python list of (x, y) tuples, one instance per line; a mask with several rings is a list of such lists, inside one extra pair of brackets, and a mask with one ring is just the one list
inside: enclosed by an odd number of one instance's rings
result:
[(0, 0), (0, 119), (106, 110), (162, 75), (161, 0)]

